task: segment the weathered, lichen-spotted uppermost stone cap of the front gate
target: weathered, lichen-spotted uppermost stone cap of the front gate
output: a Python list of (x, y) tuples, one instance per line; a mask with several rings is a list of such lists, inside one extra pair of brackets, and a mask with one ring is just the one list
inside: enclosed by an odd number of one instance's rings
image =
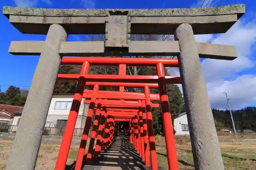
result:
[(203, 8), (174, 9), (50, 9), (3, 7), (3, 14), (23, 16), (107, 16), (109, 11), (129, 11), (128, 16), (209, 16), (237, 14), (238, 19), (245, 13), (245, 4)]

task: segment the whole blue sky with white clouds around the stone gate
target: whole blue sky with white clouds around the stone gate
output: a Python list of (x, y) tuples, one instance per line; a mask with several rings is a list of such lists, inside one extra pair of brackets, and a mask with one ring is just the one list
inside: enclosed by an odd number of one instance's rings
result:
[[(189, 8), (200, 7), (204, 0), (148, 1), (148, 0), (1, 0), (0, 6), (26, 6), (37, 8)], [(196, 4), (195, 4), (196, 3)], [(237, 47), (238, 59), (221, 61), (206, 59), (202, 67), (207, 83), (211, 106), (227, 108), (225, 95), (229, 92), (232, 108), (256, 106), (256, 3), (252, 0), (205, 0), (203, 6), (246, 4), (246, 13), (226, 33), (199, 35), (197, 41), (228, 44)], [(45, 40), (45, 35), (25, 35), (15, 29), (4, 15), (0, 15), (0, 85), (5, 91), (14, 85), (29, 89), (39, 56), (8, 54), (11, 41)], [(85, 36), (71, 35), (69, 41), (83, 40)], [(178, 74), (178, 73), (176, 73)]]

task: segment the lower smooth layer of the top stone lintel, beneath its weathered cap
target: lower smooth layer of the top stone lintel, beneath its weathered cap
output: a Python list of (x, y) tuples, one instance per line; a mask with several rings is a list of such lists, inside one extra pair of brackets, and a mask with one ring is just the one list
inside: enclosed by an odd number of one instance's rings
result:
[[(123, 16), (120, 16), (123, 17)], [(225, 33), (238, 16), (155, 16), (155, 17), (128, 17), (128, 32), (132, 34), (173, 34), (178, 25), (189, 23), (195, 34)], [(68, 34), (105, 34), (109, 23), (106, 16), (19, 16), (10, 15), (10, 23), (20, 32), (29, 34), (47, 34), (51, 24), (60, 24)]]

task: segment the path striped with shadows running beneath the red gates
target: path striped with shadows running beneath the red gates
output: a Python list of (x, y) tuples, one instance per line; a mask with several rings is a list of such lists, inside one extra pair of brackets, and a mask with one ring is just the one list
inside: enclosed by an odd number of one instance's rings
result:
[[(112, 145), (102, 150), (98, 159), (92, 159), (91, 165), (84, 165), (86, 155), (84, 155), (83, 170), (149, 170), (144, 166), (139, 154), (129, 142), (129, 137), (118, 136)], [(74, 170), (75, 162), (67, 165), (65, 170)]]

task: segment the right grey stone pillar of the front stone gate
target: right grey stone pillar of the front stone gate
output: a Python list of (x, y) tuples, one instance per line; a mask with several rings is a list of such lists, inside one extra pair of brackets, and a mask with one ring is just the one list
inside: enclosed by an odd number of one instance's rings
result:
[(224, 170), (221, 150), (193, 29), (181, 24), (174, 31), (179, 41), (180, 75), (187, 111), (195, 170)]

